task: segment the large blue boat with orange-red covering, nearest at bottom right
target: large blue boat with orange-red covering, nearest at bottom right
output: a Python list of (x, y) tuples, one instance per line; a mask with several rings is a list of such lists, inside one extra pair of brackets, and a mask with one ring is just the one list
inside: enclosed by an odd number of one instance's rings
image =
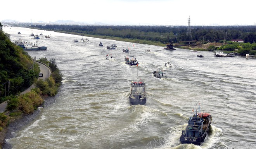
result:
[(186, 130), (182, 130), (180, 142), (182, 144), (192, 143), (200, 146), (209, 133), (212, 116), (209, 113), (201, 112), (200, 104), (199, 108), (196, 109), (195, 112), (193, 108), (192, 112), (193, 114), (189, 118)]

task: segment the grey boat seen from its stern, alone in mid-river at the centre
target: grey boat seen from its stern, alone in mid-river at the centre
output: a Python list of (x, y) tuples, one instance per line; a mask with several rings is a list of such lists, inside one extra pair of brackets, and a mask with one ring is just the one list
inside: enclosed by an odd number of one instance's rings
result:
[(132, 105), (145, 104), (147, 102), (145, 87), (146, 84), (141, 79), (137, 78), (135, 82), (131, 81), (129, 98)]

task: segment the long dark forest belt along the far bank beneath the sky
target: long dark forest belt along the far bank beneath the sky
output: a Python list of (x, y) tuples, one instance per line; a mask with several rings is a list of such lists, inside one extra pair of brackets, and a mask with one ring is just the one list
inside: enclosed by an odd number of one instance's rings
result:
[[(33, 26), (32, 26), (33, 27)], [(58, 30), (79, 34), (114, 36), (119, 38), (159, 41), (161, 43), (180, 43), (181, 41), (223, 42), (243, 39), (245, 43), (256, 41), (256, 26), (78, 26), (78, 25), (36, 25), (45, 30)]]

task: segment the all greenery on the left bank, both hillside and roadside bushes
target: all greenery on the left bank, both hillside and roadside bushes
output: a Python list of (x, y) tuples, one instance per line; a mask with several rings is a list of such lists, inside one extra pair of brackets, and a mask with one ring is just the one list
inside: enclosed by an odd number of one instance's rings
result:
[[(48, 61), (46, 58), (40, 58), (39, 61), (48, 65), (52, 74), (45, 80), (38, 79), (39, 65), (10, 41), (2, 27), (0, 23), (0, 103), (7, 101), (7, 111), (0, 113), (0, 148), (8, 124), (23, 114), (33, 113), (43, 104), (45, 97), (55, 96), (62, 81), (55, 59)], [(33, 83), (35, 88), (30, 92), (19, 94)]]

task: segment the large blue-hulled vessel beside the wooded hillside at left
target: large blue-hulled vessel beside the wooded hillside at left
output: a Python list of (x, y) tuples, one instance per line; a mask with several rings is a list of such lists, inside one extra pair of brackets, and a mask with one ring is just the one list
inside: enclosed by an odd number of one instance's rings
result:
[(36, 43), (29, 43), (29, 42), (25, 42), (25, 41), (16, 41), (15, 43), (16, 45), (20, 46), (21, 48), (23, 48), (23, 50), (47, 50), (46, 46), (38, 46), (38, 42), (36, 41)]

